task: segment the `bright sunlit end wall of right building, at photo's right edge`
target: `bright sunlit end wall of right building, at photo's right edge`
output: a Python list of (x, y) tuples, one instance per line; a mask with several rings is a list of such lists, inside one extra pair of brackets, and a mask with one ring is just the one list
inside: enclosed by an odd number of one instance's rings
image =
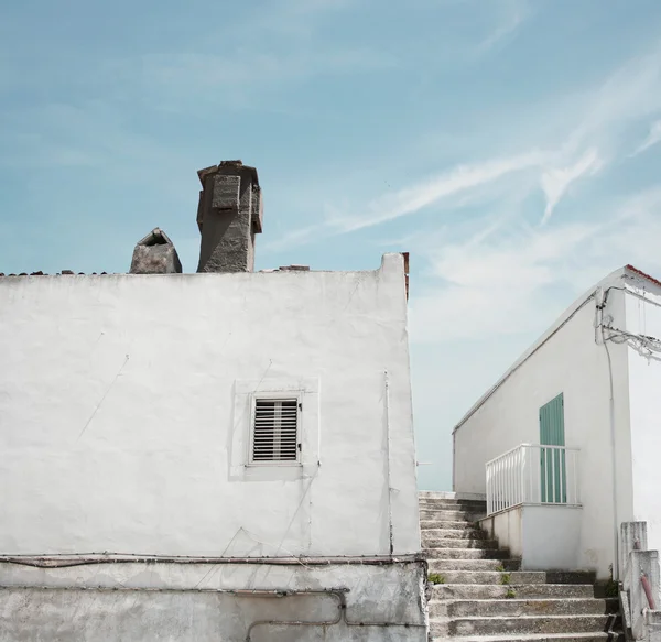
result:
[[(661, 339), (661, 287), (640, 280), (629, 287), (627, 331)], [(648, 548), (661, 551), (661, 353), (655, 356), (628, 348), (633, 519), (648, 522)]]

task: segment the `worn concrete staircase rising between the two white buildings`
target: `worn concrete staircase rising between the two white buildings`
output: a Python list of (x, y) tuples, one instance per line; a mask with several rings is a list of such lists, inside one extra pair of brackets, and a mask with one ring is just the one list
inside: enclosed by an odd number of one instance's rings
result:
[(597, 599), (587, 573), (521, 572), (475, 523), (486, 504), (420, 493), (422, 546), (438, 580), (429, 600), (432, 640), (607, 642), (620, 638), (616, 599)]

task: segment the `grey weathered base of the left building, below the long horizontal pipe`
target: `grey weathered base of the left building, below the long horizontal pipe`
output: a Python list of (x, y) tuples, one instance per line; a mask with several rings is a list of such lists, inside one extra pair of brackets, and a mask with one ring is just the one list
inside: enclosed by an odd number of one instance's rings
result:
[[(253, 642), (423, 642), (423, 579), (420, 564), (305, 568), (111, 563), (58, 569), (0, 564), (0, 641), (238, 642), (250, 632)], [(317, 592), (225, 592), (246, 586)], [(323, 592), (348, 587), (346, 594)], [(340, 600), (346, 603), (344, 613)], [(251, 628), (258, 621), (311, 625)], [(351, 625), (369, 623), (386, 625)]]

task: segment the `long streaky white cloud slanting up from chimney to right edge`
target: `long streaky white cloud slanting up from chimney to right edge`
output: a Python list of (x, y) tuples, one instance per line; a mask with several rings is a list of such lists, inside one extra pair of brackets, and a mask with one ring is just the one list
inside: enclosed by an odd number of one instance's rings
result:
[[(545, 138), (548, 111), (540, 112), (538, 140), (530, 140), (521, 153), (456, 165), (436, 176), (394, 192), (377, 196), (366, 204), (355, 204), (342, 210), (327, 207), (329, 215), (322, 224), (281, 238), (273, 243), (279, 249), (303, 243), (323, 231), (326, 235), (347, 233), (378, 226), (403, 216), (422, 211), (430, 206), (446, 209), (462, 202), (491, 200), (500, 189), (508, 198), (509, 191), (525, 196), (541, 189), (545, 204), (539, 213), (541, 224), (548, 224), (559, 203), (576, 192), (576, 185), (595, 177), (609, 164), (625, 156), (627, 137), (632, 123), (661, 109), (661, 48), (627, 61), (592, 90), (574, 98), (572, 109), (566, 97), (560, 102), (565, 120), (565, 135), (550, 141)], [(566, 116), (568, 115), (568, 116)], [(643, 148), (661, 141), (661, 124), (652, 127)], [(555, 142), (555, 144), (552, 144)], [(551, 143), (551, 144), (550, 144)], [(512, 177), (516, 184), (511, 185)]]

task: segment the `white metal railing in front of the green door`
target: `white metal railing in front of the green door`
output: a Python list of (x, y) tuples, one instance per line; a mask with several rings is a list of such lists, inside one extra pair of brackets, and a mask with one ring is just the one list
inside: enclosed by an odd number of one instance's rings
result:
[(581, 503), (578, 448), (521, 444), (487, 463), (487, 514), (546, 503)]

